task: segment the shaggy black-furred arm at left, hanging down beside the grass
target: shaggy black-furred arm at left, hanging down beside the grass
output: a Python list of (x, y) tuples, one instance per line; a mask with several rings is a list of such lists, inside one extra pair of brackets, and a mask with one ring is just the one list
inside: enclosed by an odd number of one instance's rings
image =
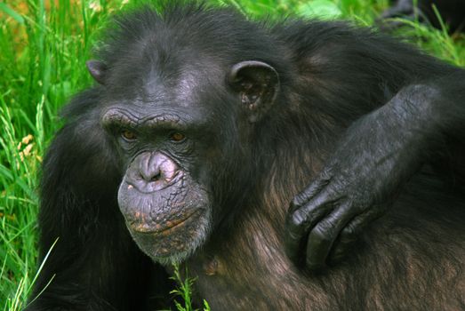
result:
[[(92, 110), (95, 92), (76, 98), (74, 120), (44, 159), (39, 214), (41, 260), (56, 240), (27, 310), (141, 309), (150, 263), (116, 205), (118, 172)], [(38, 295), (38, 297), (36, 297)]]

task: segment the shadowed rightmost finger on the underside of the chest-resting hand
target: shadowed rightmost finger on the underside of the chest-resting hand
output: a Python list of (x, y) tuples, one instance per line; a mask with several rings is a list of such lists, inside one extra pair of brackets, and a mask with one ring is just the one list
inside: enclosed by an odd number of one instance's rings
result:
[(385, 207), (376, 205), (350, 220), (334, 242), (328, 262), (333, 265), (344, 259), (349, 253), (349, 250), (357, 243), (359, 236), (365, 231), (365, 227), (371, 224), (375, 219), (380, 218), (384, 214), (384, 211), (386, 211)]

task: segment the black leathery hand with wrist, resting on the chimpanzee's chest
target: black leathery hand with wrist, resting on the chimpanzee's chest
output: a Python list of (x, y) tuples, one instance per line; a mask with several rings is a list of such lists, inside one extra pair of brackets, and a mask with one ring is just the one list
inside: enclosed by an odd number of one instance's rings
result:
[(341, 259), (389, 208), (421, 166), (428, 141), (428, 109), (415, 104), (421, 100), (421, 92), (407, 90), (352, 124), (317, 178), (294, 197), (285, 224), (286, 253), (294, 262), (303, 251), (312, 270)]

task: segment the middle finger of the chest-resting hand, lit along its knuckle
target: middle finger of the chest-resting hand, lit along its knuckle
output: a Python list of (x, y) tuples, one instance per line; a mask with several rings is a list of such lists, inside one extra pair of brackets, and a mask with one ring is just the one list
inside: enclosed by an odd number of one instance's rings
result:
[(333, 247), (334, 241), (336, 241), (342, 229), (353, 216), (354, 213), (350, 209), (350, 204), (347, 203), (340, 206), (336, 211), (333, 211), (311, 230), (309, 241), (307, 242), (307, 268), (317, 270), (318, 268), (325, 267), (326, 259)]

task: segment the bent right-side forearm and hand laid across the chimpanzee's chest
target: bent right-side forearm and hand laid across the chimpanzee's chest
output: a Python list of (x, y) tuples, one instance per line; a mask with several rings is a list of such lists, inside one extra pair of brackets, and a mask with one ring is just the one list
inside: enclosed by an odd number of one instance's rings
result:
[[(436, 81), (406, 86), (349, 127), (324, 170), (291, 204), (285, 241), (292, 259), (302, 257), (302, 242), (310, 269), (341, 259), (423, 163), (447, 160), (448, 150), (457, 147), (448, 141), (465, 145), (464, 81), (465, 71), (457, 69)], [(465, 155), (456, 152), (455, 157)]]

